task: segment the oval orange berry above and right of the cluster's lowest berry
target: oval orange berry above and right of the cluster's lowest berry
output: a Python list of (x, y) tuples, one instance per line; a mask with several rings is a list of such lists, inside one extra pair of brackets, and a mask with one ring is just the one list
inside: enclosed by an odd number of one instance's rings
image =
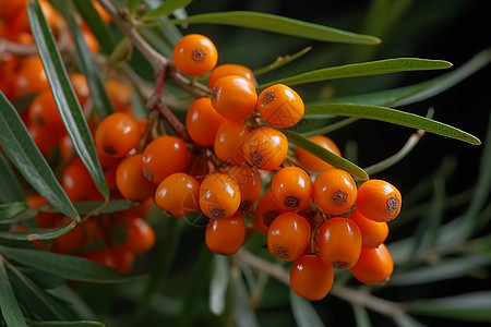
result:
[(318, 247), (320, 257), (333, 268), (349, 269), (360, 256), (360, 229), (350, 219), (331, 218), (319, 229)]

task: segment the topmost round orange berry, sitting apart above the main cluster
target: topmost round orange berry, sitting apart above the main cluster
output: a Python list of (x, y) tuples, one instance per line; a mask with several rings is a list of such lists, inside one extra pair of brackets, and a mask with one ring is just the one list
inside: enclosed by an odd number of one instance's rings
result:
[(201, 76), (215, 68), (218, 51), (206, 36), (189, 34), (176, 44), (172, 60), (176, 68), (183, 74)]

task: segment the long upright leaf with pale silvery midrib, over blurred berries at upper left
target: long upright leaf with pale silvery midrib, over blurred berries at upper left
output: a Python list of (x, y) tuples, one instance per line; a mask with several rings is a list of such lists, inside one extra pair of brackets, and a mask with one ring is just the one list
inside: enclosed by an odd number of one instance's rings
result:
[(67, 131), (79, 157), (87, 167), (94, 183), (105, 198), (109, 197), (109, 190), (104, 178), (103, 168), (97, 158), (87, 122), (75, 97), (67, 70), (61, 60), (51, 29), (37, 1), (27, 7), (31, 31), (45, 68), (46, 75), (60, 111)]

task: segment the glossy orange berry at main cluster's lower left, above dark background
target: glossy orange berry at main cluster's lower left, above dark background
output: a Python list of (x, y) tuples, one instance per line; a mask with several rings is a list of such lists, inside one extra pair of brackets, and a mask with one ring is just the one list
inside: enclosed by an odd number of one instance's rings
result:
[(173, 217), (200, 210), (200, 183), (191, 175), (176, 172), (166, 177), (155, 192), (156, 205)]

